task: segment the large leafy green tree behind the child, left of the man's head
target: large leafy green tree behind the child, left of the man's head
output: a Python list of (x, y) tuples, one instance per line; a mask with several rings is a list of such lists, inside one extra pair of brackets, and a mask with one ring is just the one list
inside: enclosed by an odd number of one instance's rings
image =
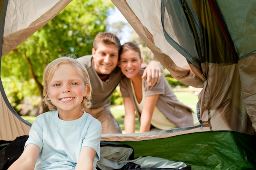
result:
[[(114, 4), (110, 0), (75, 0), (61, 13), (2, 57), (1, 77), (16, 77), (24, 82), (34, 79), (43, 96), (42, 76), (45, 66), (63, 55), (88, 55), (98, 32), (106, 31), (106, 18)], [(29, 87), (27, 87), (29, 88)], [(46, 108), (42, 112), (45, 112)]]

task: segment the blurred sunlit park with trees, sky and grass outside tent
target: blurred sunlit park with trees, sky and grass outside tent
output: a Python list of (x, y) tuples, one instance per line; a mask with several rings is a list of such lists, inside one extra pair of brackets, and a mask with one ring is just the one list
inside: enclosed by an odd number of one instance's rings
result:
[[(157, 61), (110, 0), (72, 1), (53, 20), (2, 57), (2, 84), (14, 110), (31, 123), (37, 115), (47, 111), (41, 102), (45, 66), (65, 55), (90, 55), (94, 37), (106, 31), (115, 33), (121, 44), (135, 42), (145, 63)], [(164, 75), (180, 102), (196, 111), (201, 89), (178, 82), (166, 69)], [(122, 102), (117, 87), (111, 97), (111, 109), (121, 128), (124, 118)]]

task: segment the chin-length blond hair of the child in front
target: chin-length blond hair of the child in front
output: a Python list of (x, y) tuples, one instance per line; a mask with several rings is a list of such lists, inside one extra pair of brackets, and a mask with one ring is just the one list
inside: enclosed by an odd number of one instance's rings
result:
[(91, 94), (92, 94), (92, 86), (90, 84), (90, 78), (88, 75), (88, 71), (85, 68), (85, 65), (80, 63), (79, 61), (75, 60), (72, 57), (60, 57), (57, 58), (55, 60), (53, 60), (52, 62), (50, 62), (46, 67), (45, 70), (43, 72), (43, 102), (48, 106), (49, 110), (56, 110), (57, 107), (54, 106), (47, 94), (47, 88), (48, 88), (48, 83), (49, 81), (52, 79), (55, 71), (58, 69), (58, 67), (61, 64), (69, 64), (73, 67), (73, 71), (77, 71), (79, 73), (79, 75), (81, 75), (81, 77), (83, 78), (83, 83), (84, 86), (86, 87), (88, 85), (88, 89), (87, 89), (87, 94), (85, 97), (83, 97), (83, 101), (81, 103), (81, 109), (82, 110), (86, 110), (88, 108), (91, 107), (92, 103), (91, 103)]

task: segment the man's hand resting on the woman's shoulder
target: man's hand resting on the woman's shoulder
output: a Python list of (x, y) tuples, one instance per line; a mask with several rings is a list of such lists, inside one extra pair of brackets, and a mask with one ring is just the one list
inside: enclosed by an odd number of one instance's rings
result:
[(141, 78), (148, 77), (147, 82), (149, 86), (154, 86), (161, 79), (162, 66), (159, 62), (150, 61), (146, 66)]

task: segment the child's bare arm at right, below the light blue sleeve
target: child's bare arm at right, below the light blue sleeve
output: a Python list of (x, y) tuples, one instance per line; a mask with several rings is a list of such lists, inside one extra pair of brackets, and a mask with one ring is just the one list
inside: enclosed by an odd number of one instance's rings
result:
[(93, 170), (96, 151), (88, 146), (81, 149), (75, 170)]

